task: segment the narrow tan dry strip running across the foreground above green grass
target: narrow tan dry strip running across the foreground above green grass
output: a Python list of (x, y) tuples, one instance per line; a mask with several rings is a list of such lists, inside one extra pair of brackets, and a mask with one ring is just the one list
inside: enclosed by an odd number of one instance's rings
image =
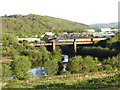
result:
[(26, 80), (26, 81), (20, 81), (20, 82), (32, 82), (35, 80), (40, 80), (41, 78), (45, 78), (46, 80), (54, 80), (54, 79), (62, 79), (62, 78), (80, 78), (80, 79), (91, 79), (91, 78), (103, 78), (103, 77), (107, 77), (107, 76), (114, 76), (115, 74), (120, 73), (120, 71), (118, 72), (96, 72), (96, 73), (89, 73), (87, 75), (83, 75), (83, 74), (71, 74), (71, 75), (57, 75), (57, 76), (39, 76), (39, 77), (35, 77), (35, 78), (31, 78), (30, 80)]

